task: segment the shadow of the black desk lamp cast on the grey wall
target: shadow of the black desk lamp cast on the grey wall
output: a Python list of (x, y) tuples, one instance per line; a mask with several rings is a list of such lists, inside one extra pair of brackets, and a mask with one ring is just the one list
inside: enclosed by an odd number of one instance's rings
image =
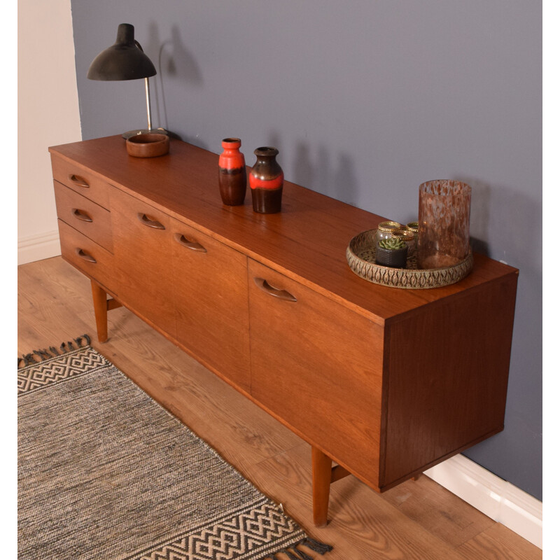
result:
[[(181, 31), (178, 26), (174, 25), (171, 29), (171, 38), (162, 40), (158, 25), (151, 22), (149, 26), (148, 52), (158, 52), (158, 75), (153, 78), (155, 83), (153, 96), (152, 111), (157, 116), (157, 125), (168, 128), (167, 104), (165, 100), (165, 78), (174, 78), (183, 80), (190, 85), (200, 86), (203, 83), (202, 71), (196, 60), (190, 55), (185, 47)], [(172, 136), (180, 138), (178, 134), (171, 132)], [(200, 145), (200, 140), (197, 142)], [(201, 146), (204, 147), (204, 146)]]

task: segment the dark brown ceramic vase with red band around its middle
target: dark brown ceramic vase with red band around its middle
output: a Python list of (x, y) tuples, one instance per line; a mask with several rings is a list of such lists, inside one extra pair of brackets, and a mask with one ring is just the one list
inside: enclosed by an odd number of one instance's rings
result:
[(259, 214), (276, 214), (282, 205), (284, 173), (276, 162), (278, 150), (263, 146), (255, 150), (257, 161), (249, 174), (253, 210)]

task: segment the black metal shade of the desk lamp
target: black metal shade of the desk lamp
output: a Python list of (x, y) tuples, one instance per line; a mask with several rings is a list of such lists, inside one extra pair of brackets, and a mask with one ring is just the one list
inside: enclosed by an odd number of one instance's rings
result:
[(118, 26), (114, 45), (100, 52), (87, 71), (90, 80), (138, 80), (155, 76), (155, 66), (134, 41), (134, 25)]

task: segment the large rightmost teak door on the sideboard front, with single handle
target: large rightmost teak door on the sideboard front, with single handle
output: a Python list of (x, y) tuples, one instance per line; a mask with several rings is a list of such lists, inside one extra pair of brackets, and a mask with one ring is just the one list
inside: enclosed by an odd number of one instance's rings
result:
[(378, 486), (382, 328), (252, 260), (248, 281), (251, 394)]

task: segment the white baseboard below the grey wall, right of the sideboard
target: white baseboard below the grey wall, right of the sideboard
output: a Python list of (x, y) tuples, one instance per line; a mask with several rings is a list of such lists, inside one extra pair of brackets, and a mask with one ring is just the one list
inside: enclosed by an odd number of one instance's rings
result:
[(451, 457), (424, 474), (542, 549), (542, 502), (533, 496), (464, 455)]

